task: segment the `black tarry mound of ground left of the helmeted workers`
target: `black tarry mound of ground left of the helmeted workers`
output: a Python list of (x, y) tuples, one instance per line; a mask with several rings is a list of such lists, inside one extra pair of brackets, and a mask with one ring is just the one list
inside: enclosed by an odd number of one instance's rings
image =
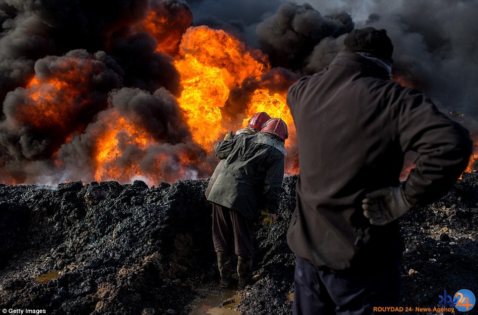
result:
[[(0, 305), (47, 314), (187, 313), (196, 286), (214, 274), (205, 187), (204, 180), (0, 187)], [(49, 271), (59, 277), (35, 281)]]

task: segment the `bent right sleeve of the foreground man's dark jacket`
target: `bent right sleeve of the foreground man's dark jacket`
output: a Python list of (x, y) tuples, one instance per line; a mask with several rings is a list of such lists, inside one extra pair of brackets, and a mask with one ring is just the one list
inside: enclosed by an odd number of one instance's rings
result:
[(408, 89), (398, 110), (398, 138), (403, 152), (418, 153), (403, 185), (411, 204), (428, 204), (455, 184), (468, 165), (472, 142), (468, 131), (441, 113), (431, 99)]

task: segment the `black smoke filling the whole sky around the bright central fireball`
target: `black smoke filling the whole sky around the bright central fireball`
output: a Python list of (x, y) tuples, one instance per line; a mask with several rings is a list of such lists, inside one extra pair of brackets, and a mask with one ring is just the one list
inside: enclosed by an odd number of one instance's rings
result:
[[(114, 170), (133, 166), (121, 181), (207, 177), (216, 161), (192, 141), (177, 102), (174, 60), (191, 25), (224, 29), (268, 55), (272, 70), (231, 88), (221, 109), (229, 122), (245, 118), (255, 88), (284, 92), (325, 69), (353, 28), (373, 26), (392, 38), (397, 80), (477, 125), (476, 1), (283, 2), (0, 0), (0, 182), (118, 179)], [(127, 125), (152, 144), (131, 145)], [(98, 141), (114, 128), (120, 153), (99, 177)]]

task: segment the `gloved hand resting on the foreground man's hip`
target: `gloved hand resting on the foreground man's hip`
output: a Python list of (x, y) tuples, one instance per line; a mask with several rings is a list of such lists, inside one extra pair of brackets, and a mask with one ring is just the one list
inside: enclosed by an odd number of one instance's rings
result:
[(388, 187), (372, 191), (362, 200), (364, 216), (373, 225), (386, 225), (403, 215), (411, 204), (401, 187)]

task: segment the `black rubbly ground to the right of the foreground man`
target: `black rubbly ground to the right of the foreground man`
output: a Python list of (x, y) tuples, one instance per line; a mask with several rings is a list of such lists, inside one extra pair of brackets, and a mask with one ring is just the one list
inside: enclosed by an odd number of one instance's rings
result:
[(465, 173), (439, 201), (408, 211), (401, 232), (403, 306), (433, 309), (445, 290), (453, 296), (468, 289), (478, 296), (477, 172)]

